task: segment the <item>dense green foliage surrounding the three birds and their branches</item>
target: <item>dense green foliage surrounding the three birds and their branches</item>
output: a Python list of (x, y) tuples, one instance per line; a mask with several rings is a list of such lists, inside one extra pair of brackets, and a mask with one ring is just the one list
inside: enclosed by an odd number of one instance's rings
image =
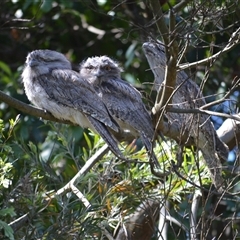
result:
[[(159, 2), (168, 25), (169, 9), (180, 1)], [(189, 44), (182, 62), (194, 62), (225, 46), (240, 26), (240, 3), (186, 2), (176, 14), (173, 34), (180, 49)], [(161, 39), (148, 1), (3, 0), (1, 90), (29, 103), (21, 72), (26, 55), (35, 49), (62, 52), (76, 69), (88, 56), (109, 55), (122, 64), (123, 78), (143, 93), (146, 106), (151, 109), (156, 93), (151, 91), (153, 75), (141, 49), (149, 37)], [(202, 84), (208, 102), (221, 98), (239, 76), (239, 50), (236, 46), (204, 66), (187, 70)], [(238, 97), (236, 89), (230, 96), (231, 103), (224, 102), (213, 109), (236, 113)], [(77, 180), (75, 186), (82, 198), (72, 189), (54, 195), (103, 147), (103, 140), (89, 130), (45, 122), (5, 103), (0, 104), (0, 119), (1, 239), (113, 239), (111, 236), (120, 236), (122, 223), (127, 224), (130, 214), (136, 214), (137, 207), (146, 201), (167, 203), (165, 217), (171, 223), (168, 239), (190, 239), (195, 198), (199, 239), (239, 238), (239, 220), (234, 218), (240, 212), (239, 199), (211, 192), (208, 169), (194, 148), (184, 149), (178, 174), (173, 172), (160, 181), (151, 174), (141, 141), (122, 143), (124, 154), (137, 161), (122, 162), (108, 152)], [(223, 121), (220, 117), (212, 120), (216, 127)], [(168, 138), (158, 140), (154, 151), (162, 169), (167, 170), (177, 164), (179, 146)], [(237, 180), (236, 177), (234, 181)], [(238, 189), (236, 184), (231, 191), (236, 193)], [(86, 200), (90, 205), (86, 206)], [(136, 231), (144, 233), (149, 228), (144, 226)], [(157, 239), (155, 222), (152, 229), (152, 238), (142, 235), (142, 239)]]

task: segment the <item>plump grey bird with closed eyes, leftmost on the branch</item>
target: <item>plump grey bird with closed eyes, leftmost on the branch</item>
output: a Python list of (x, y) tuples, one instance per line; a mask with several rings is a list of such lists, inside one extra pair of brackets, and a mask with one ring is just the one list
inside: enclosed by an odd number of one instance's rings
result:
[(105, 105), (88, 81), (71, 68), (56, 51), (35, 50), (28, 54), (22, 73), (26, 95), (34, 105), (83, 128), (98, 132), (112, 152), (123, 158), (118, 142), (109, 132), (119, 131)]

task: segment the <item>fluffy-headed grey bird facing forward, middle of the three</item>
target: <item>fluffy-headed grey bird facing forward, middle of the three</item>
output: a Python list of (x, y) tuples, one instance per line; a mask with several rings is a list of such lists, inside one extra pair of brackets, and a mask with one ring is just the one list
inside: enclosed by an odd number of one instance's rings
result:
[[(140, 136), (151, 154), (154, 136), (152, 119), (141, 93), (121, 79), (121, 71), (118, 63), (107, 56), (91, 57), (80, 64), (81, 76), (91, 83), (120, 128), (130, 131), (134, 137)], [(158, 166), (156, 156), (152, 154), (152, 157)]]

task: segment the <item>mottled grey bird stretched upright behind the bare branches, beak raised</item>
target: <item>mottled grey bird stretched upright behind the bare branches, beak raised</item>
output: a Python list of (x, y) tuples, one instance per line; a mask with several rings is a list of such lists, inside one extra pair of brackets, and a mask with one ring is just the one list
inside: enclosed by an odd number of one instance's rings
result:
[[(162, 43), (146, 42), (143, 50), (155, 77), (155, 89), (159, 90), (165, 76), (166, 56)], [(193, 82), (184, 71), (179, 71), (176, 77), (176, 87), (172, 104), (175, 108), (194, 109), (206, 104), (199, 86)], [(223, 185), (222, 161), (227, 160), (228, 148), (218, 138), (210, 118), (205, 114), (179, 114), (167, 112), (168, 124), (174, 123), (179, 127), (179, 142), (185, 132), (193, 138), (195, 145), (202, 151), (203, 157), (210, 169), (212, 180), (217, 188)], [(184, 144), (184, 143), (183, 143)]]

